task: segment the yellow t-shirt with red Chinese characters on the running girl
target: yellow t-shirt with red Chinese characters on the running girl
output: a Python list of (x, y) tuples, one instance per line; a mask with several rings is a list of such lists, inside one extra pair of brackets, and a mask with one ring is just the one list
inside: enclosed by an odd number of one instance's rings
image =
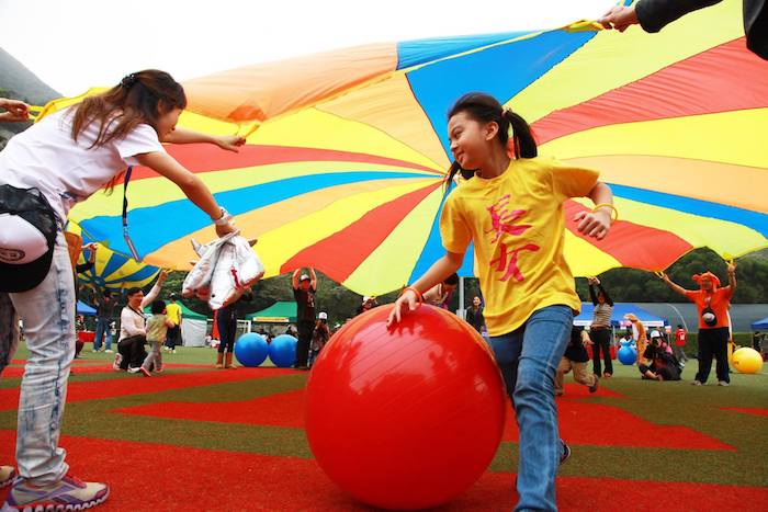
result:
[(580, 310), (563, 257), (563, 202), (588, 194), (598, 174), (552, 158), (512, 160), (502, 174), (472, 178), (448, 196), (442, 243), (463, 253), (474, 241), (489, 335), (513, 331), (546, 306)]

